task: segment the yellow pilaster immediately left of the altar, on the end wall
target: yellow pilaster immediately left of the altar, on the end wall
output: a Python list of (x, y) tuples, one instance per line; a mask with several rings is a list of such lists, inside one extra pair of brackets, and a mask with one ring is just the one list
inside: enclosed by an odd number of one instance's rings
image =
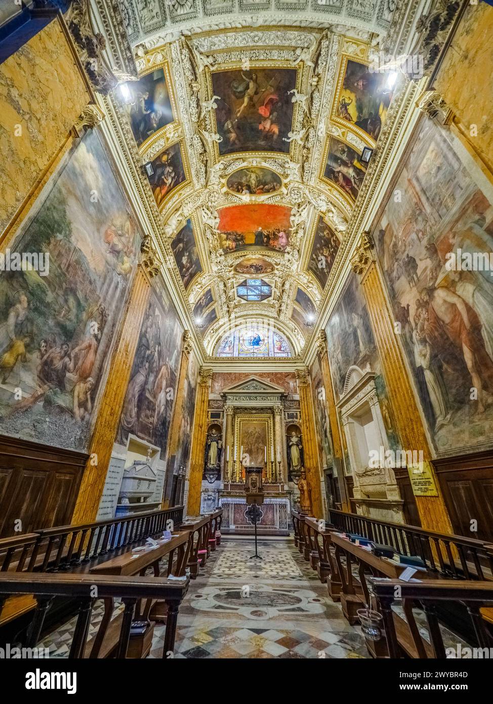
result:
[(188, 502), (186, 513), (198, 516), (200, 513), (200, 494), (202, 493), (202, 475), (204, 469), (204, 449), (207, 436), (207, 419), (209, 407), (209, 389), (212, 369), (200, 367), (198, 393), (196, 400), (195, 424), (193, 425), (190, 472), (188, 475)]

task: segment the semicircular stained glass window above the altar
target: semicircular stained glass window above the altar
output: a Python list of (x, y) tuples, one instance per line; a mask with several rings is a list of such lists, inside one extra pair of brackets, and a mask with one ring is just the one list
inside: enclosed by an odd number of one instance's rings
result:
[(217, 348), (217, 357), (290, 357), (286, 339), (262, 323), (248, 322), (226, 335)]

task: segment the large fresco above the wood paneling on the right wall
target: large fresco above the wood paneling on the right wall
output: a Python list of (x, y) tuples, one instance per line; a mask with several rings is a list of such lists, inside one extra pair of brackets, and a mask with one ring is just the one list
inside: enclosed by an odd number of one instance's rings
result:
[(439, 453), (492, 445), (493, 279), (475, 261), (492, 257), (493, 189), (473, 170), (461, 144), (423, 119), (372, 230)]

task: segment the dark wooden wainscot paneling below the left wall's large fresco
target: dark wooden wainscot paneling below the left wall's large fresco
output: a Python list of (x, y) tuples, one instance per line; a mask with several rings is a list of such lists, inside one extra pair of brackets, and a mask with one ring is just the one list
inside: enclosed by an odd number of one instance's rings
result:
[(0, 435), (0, 537), (70, 523), (87, 459)]

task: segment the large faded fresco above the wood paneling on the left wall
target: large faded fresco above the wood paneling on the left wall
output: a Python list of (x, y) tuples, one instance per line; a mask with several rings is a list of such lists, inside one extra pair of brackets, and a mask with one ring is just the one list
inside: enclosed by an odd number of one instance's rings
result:
[(0, 432), (82, 450), (141, 234), (96, 132), (38, 203), (10, 248), (38, 269), (0, 278)]

